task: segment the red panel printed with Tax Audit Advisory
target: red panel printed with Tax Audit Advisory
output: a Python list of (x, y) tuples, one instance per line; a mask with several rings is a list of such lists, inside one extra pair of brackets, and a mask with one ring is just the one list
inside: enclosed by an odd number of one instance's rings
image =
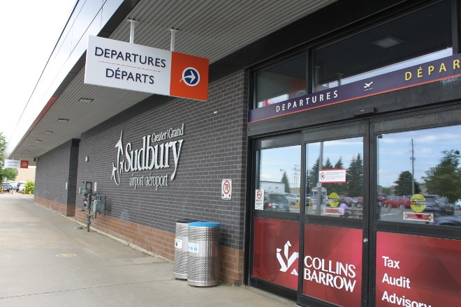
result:
[(461, 306), (461, 241), (376, 234), (376, 307)]

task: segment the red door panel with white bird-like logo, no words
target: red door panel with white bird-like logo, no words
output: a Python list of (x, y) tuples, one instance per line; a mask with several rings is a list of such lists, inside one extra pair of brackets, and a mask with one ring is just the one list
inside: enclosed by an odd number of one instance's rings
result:
[(298, 289), (299, 225), (287, 220), (254, 219), (254, 277)]

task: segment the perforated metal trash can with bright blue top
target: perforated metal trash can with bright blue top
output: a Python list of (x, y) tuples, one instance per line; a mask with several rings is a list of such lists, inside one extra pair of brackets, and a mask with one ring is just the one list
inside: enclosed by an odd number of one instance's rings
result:
[(189, 223), (187, 283), (209, 287), (219, 283), (219, 223)]

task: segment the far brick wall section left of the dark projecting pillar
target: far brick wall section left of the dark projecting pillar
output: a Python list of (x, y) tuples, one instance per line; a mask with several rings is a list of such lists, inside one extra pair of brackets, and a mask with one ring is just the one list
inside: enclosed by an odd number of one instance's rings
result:
[[(37, 158), (34, 202), (64, 216), (74, 216), (77, 157), (78, 140), (70, 140)], [(69, 200), (69, 196), (73, 197)]]

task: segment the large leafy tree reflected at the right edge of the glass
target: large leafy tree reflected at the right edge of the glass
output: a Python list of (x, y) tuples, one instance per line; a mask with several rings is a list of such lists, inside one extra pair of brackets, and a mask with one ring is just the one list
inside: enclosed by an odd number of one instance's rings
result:
[(441, 151), (443, 157), (439, 165), (427, 170), (423, 177), (427, 192), (447, 198), (448, 202), (456, 202), (461, 197), (461, 170), (458, 167), (460, 152), (455, 150)]

